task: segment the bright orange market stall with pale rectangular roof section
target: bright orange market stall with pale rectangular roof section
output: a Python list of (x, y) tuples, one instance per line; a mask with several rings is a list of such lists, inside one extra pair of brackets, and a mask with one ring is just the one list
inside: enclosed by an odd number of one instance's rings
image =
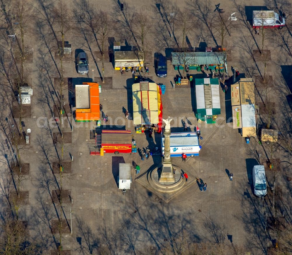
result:
[(75, 85), (76, 122), (88, 122), (100, 119), (98, 83), (84, 82)]

